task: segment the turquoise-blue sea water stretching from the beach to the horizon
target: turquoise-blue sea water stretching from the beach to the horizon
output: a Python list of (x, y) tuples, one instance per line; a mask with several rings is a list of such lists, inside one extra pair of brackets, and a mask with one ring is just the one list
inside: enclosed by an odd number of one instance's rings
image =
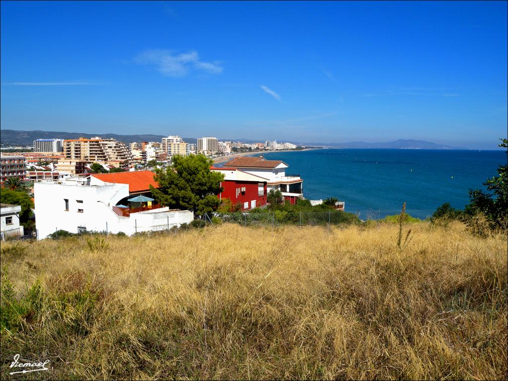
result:
[(502, 150), (339, 148), (264, 155), (288, 164), (288, 174), (301, 175), (306, 199), (336, 197), (345, 201), (345, 211), (360, 212), (363, 219), (399, 213), (403, 202), (419, 218), (445, 202), (462, 209), (468, 189), (483, 188), (506, 163)]

